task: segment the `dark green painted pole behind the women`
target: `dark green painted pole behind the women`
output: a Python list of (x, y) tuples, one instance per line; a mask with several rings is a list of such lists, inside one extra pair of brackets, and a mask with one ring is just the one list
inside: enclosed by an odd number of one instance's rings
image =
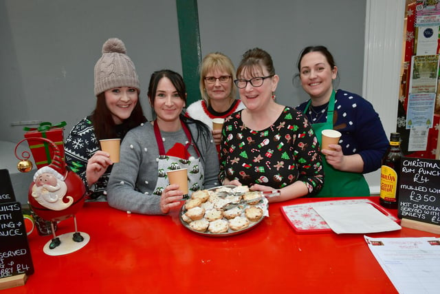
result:
[(197, 0), (176, 0), (182, 74), (188, 98), (186, 106), (200, 99), (199, 72), (201, 45)]

